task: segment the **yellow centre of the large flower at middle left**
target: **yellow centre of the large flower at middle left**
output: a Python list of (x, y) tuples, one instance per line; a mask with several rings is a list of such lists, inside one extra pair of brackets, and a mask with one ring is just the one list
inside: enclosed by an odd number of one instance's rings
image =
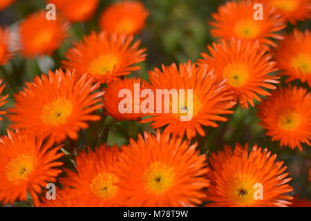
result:
[(73, 112), (73, 104), (64, 98), (55, 99), (46, 104), (41, 111), (41, 120), (45, 124), (65, 124), (67, 118)]

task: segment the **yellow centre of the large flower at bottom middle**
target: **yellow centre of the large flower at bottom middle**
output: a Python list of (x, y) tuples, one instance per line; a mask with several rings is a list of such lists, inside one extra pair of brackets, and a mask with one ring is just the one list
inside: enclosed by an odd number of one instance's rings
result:
[(144, 171), (143, 180), (148, 191), (162, 194), (171, 188), (174, 177), (173, 169), (162, 162), (155, 162)]

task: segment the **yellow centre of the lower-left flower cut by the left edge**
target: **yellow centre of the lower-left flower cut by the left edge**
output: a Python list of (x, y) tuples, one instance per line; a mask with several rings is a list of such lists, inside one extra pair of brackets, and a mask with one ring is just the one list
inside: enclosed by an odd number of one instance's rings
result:
[(6, 177), (10, 181), (27, 180), (33, 169), (33, 158), (30, 155), (21, 154), (11, 160), (6, 167)]

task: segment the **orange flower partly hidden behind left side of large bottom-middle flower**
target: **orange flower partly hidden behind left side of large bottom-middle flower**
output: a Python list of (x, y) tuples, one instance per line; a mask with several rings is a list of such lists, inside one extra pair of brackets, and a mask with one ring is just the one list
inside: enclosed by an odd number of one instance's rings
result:
[(120, 177), (117, 170), (120, 164), (120, 148), (102, 144), (95, 152), (88, 149), (77, 156), (77, 173), (67, 170), (68, 177), (62, 180), (65, 188), (79, 200), (87, 203), (84, 206), (122, 206), (124, 195), (120, 188)]

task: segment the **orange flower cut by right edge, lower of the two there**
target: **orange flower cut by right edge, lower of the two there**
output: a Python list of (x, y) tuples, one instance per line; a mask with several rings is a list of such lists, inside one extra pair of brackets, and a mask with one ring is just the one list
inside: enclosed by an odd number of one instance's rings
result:
[(311, 145), (311, 94), (305, 88), (279, 88), (258, 110), (260, 124), (272, 141), (300, 151), (301, 144)]

